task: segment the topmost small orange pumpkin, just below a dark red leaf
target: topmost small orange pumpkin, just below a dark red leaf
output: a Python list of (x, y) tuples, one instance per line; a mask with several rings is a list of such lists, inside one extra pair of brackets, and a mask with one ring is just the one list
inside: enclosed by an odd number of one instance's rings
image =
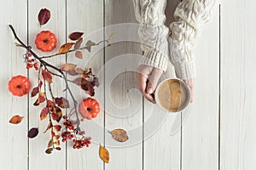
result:
[(56, 47), (57, 39), (51, 31), (41, 31), (38, 33), (35, 43), (41, 51), (52, 51)]

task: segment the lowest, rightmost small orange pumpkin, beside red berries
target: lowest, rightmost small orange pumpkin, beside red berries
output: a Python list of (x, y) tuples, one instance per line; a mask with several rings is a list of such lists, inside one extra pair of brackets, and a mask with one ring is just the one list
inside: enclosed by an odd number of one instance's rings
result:
[(85, 119), (95, 118), (100, 112), (100, 105), (96, 99), (83, 99), (79, 104), (79, 113)]

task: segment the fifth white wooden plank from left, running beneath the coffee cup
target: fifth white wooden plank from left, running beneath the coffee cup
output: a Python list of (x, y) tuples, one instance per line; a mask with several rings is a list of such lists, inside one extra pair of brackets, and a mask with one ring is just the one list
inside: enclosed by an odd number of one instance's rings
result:
[[(177, 4), (176, 1), (167, 1), (166, 4), (166, 26), (168, 26), (173, 20), (173, 13)], [(174, 68), (172, 65), (168, 65), (167, 72), (160, 78), (160, 82), (166, 78), (176, 77)], [(144, 128), (144, 169), (180, 169), (180, 147), (181, 147), (181, 131), (180, 123), (181, 114), (166, 114), (165, 111), (161, 111), (157, 105), (152, 105), (148, 100), (144, 99), (144, 122), (147, 123), (148, 119), (155, 114), (161, 115), (155, 118), (155, 122), (151, 127)], [(166, 116), (166, 119), (162, 117)], [(161, 123), (157, 123), (156, 119)], [(175, 123), (174, 123), (175, 122)], [(148, 136), (148, 131), (154, 127), (157, 131), (149, 133), (152, 136)], [(147, 139), (147, 136), (149, 139)]]

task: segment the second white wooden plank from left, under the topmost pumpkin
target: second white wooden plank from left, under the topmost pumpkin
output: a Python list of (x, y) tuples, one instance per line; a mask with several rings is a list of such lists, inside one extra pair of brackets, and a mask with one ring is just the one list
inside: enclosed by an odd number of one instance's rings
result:
[[(62, 43), (65, 42), (66, 38), (66, 6), (65, 1), (37, 1), (28, 2), (29, 13), (28, 13), (28, 27), (29, 27), (29, 43), (32, 45), (32, 49), (40, 55), (55, 54), (58, 52), (58, 48)], [(38, 24), (38, 13), (41, 8), (48, 8), (51, 12), (49, 22), (44, 26)], [(35, 47), (35, 37), (43, 30), (49, 30), (55, 33), (57, 38), (57, 48), (50, 53), (44, 53)], [(48, 59), (48, 61), (56, 66), (60, 66), (66, 62), (65, 56), (55, 57)], [(30, 71), (30, 77), (32, 79), (32, 87), (37, 86), (37, 72), (32, 69)], [(52, 91), (55, 97), (65, 96), (62, 90), (65, 88), (63, 81), (59, 77), (54, 77), (52, 83)], [(47, 94), (50, 99), (49, 92)], [(43, 109), (45, 104), (39, 105), (38, 107), (33, 106), (36, 97), (30, 99), (30, 122), (29, 127), (38, 127), (39, 134), (35, 139), (29, 140), (29, 167), (30, 169), (65, 169), (66, 168), (66, 144), (61, 144), (61, 151), (54, 150), (52, 154), (47, 155), (44, 151), (47, 149), (47, 144), (50, 139), (50, 131), (43, 133), (46, 129), (49, 119), (46, 118), (44, 121), (40, 121), (40, 111)], [(63, 111), (65, 113), (65, 111)], [(56, 122), (54, 122), (56, 123)]]

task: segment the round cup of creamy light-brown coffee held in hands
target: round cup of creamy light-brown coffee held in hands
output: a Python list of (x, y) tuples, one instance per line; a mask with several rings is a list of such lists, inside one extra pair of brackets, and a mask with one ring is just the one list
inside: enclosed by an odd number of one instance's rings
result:
[(164, 111), (183, 111), (190, 103), (189, 86), (178, 78), (168, 78), (157, 86), (154, 98), (157, 105)]

